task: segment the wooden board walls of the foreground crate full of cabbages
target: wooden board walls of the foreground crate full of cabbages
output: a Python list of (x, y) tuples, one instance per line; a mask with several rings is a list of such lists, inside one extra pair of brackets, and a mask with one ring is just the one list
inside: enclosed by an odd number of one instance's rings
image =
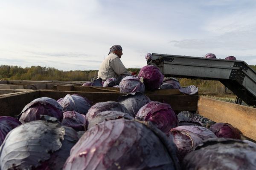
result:
[[(0, 97), (0, 115), (18, 115), (26, 104), (40, 97), (50, 97), (55, 100), (67, 94), (79, 94), (88, 98), (93, 104), (104, 101), (117, 101), (118, 92), (77, 92), (57, 90), (34, 90), (31, 92)], [(198, 95), (166, 95), (145, 94), (152, 101), (168, 103), (176, 113), (183, 110), (198, 112), (200, 115), (215, 122), (225, 122), (238, 128), (245, 138), (256, 141), (256, 108), (241, 106), (224, 101), (218, 101)]]

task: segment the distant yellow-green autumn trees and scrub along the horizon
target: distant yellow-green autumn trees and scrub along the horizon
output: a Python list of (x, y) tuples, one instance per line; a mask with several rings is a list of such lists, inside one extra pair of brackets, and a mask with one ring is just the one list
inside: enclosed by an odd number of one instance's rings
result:
[[(256, 71), (256, 65), (250, 65)], [(140, 72), (140, 68), (128, 68), (131, 72)], [(58, 81), (91, 81), (98, 75), (98, 70), (62, 71), (53, 67), (31, 66), (0, 66), (0, 80), (58, 80)], [(225, 86), (219, 81), (192, 80), (178, 78), (181, 86), (195, 85), (199, 92), (209, 95), (221, 95), (225, 92)]]

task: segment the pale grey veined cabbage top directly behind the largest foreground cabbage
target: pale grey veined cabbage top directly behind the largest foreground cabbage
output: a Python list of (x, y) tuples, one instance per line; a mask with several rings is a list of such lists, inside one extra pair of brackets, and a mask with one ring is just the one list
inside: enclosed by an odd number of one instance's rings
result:
[(123, 113), (119, 111), (104, 111), (100, 112), (98, 115), (96, 115), (89, 123), (88, 123), (88, 129), (95, 126), (96, 124), (101, 123), (102, 121), (109, 121), (109, 120), (116, 120), (119, 118), (124, 119), (133, 119), (128, 113)]

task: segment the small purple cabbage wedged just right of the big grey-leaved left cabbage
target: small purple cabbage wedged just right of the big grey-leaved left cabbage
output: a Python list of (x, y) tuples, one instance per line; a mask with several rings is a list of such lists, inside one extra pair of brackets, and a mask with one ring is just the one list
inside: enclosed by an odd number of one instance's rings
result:
[(86, 130), (86, 118), (85, 115), (76, 111), (66, 111), (63, 113), (62, 126), (72, 127), (76, 131)]

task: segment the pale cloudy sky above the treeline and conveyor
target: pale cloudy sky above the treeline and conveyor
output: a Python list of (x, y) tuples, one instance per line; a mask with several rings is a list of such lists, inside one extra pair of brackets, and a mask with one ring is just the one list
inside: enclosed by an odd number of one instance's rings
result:
[(115, 44), (126, 68), (148, 52), (256, 65), (256, 0), (0, 0), (0, 65), (95, 70)]

